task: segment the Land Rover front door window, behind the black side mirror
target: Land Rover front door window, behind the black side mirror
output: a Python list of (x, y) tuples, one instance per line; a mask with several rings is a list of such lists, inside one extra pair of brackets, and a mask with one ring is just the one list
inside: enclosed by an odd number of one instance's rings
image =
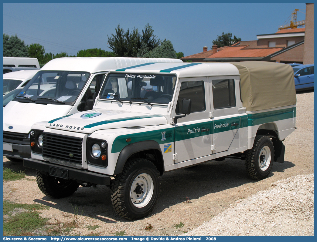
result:
[(191, 112), (206, 110), (205, 91), (203, 81), (182, 82), (176, 104), (176, 114), (181, 114), (182, 100), (191, 99)]

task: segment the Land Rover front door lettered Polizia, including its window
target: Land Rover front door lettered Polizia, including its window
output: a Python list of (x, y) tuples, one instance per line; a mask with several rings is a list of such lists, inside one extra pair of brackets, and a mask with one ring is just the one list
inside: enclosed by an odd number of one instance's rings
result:
[(182, 115), (182, 100), (191, 99), (191, 114), (179, 118), (175, 127), (174, 163), (191, 160), (211, 154), (210, 104), (206, 77), (182, 78), (177, 90), (177, 103), (173, 117)]

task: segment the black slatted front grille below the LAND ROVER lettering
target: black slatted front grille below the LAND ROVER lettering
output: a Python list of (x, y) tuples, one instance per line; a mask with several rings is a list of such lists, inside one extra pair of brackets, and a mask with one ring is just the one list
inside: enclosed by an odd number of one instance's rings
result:
[(43, 132), (43, 157), (82, 164), (82, 138)]

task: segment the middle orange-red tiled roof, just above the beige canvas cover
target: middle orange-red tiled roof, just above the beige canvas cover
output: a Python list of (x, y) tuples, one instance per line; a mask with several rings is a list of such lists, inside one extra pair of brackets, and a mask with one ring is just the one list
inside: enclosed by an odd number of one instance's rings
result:
[[(248, 45), (247, 45), (248, 46)], [(206, 58), (244, 58), (244, 57), (265, 57), (283, 48), (257, 48), (245, 49), (247, 46), (228, 46), (227, 48), (210, 55)]]

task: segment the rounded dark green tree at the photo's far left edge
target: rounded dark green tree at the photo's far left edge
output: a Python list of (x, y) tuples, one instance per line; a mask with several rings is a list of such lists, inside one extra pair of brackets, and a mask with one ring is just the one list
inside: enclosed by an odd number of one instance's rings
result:
[(17, 35), (3, 34), (3, 56), (28, 57), (28, 48)]

